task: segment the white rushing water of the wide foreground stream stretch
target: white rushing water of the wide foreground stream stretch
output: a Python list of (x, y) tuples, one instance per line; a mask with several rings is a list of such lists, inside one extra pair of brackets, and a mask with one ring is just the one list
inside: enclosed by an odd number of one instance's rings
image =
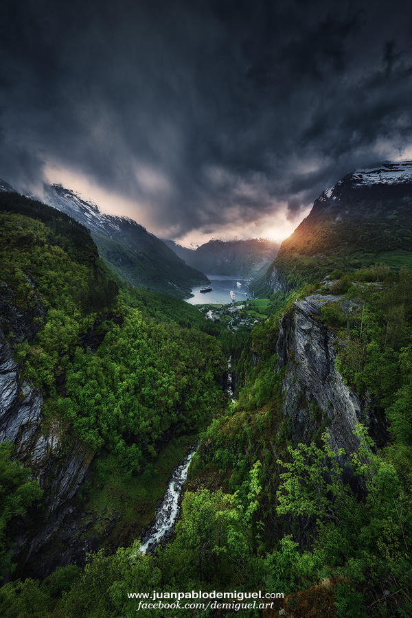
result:
[(190, 461), (196, 453), (197, 445), (192, 448), (172, 472), (172, 477), (168, 485), (168, 489), (163, 496), (160, 506), (156, 511), (155, 523), (150, 527), (144, 536), (139, 550), (141, 553), (147, 553), (149, 549), (155, 547), (165, 536), (168, 535), (174, 528), (177, 516), (179, 515), (180, 505), (179, 496), (181, 494), (183, 484), (187, 481), (187, 472), (189, 470)]

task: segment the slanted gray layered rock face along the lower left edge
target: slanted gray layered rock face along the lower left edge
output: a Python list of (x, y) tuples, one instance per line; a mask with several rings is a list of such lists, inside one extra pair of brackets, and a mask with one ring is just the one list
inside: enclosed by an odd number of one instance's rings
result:
[(71, 499), (84, 480), (93, 452), (71, 437), (69, 428), (58, 420), (44, 423), (42, 405), (41, 392), (21, 380), (10, 343), (0, 329), (0, 442), (8, 440), (16, 445), (17, 459), (30, 468), (44, 491), (47, 519), (43, 527), (34, 538), (33, 530), (21, 529), (14, 539), (14, 555), (20, 556), (27, 573), (36, 565), (31, 573), (34, 577), (45, 577), (60, 564), (84, 560), (86, 551), (96, 549), (73, 542), (64, 555), (49, 551), (48, 563), (43, 564), (45, 545), (67, 534), (67, 522), (73, 526)]

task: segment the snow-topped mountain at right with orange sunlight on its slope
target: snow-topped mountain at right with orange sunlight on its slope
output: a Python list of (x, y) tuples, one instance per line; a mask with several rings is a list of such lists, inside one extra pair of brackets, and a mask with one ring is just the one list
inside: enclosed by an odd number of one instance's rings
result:
[(354, 170), (321, 193), (252, 286), (285, 292), (343, 263), (359, 268), (385, 262), (393, 251), (404, 252), (409, 264), (411, 213), (412, 161)]

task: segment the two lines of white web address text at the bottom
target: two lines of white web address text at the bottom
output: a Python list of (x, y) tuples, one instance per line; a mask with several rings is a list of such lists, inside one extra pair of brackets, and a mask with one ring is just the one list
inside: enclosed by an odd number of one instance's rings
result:
[(257, 592), (219, 592), (216, 590), (205, 592), (158, 592), (127, 593), (129, 599), (136, 599), (136, 611), (147, 609), (225, 609), (240, 611), (244, 609), (274, 609), (275, 599), (283, 599), (284, 593)]

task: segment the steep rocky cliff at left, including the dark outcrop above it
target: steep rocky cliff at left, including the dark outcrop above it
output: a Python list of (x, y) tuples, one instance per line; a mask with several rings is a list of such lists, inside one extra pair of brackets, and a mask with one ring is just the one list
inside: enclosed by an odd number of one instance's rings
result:
[[(0, 442), (15, 444), (15, 457), (30, 468), (44, 491), (41, 531), (21, 531), (15, 540), (14, 553), (23, 552), (23, 561), (28, 562), (50, 536), (61, 532), (60, 525), (73, 510), (71, 499), (84, 479), (93, 451), (73, 438), (69, 427), (62, 427), (58, 420), (47, 418), (45, 422), (42, 393), (22, 378), (12, 345), (5, 337), (7, 332), (13, 342), (34, 339), (45, 315), (41, 300), (36, 300), (30, 310), (19, 310), (12, 290), (1, 282), (0, 306)], [(65, 562), (68, 564), (69, 557)], [(44, 574), (47, 572), (45, 569)]]

